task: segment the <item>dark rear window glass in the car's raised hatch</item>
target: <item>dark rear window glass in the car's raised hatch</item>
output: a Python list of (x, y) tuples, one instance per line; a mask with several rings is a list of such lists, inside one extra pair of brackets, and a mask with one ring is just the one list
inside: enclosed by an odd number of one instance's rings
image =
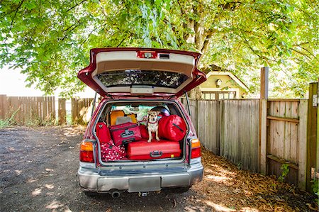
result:
[(125, 85), (149, 85), (176, 89), (188, 79), (185, 74), (139, 69), (116, 70), (97, 74), (105, 87)]

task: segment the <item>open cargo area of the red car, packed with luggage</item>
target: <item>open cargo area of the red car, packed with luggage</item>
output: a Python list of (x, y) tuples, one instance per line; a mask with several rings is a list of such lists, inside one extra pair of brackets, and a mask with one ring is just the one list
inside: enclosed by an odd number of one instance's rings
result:
[[(158, 133), (147, 130), (147, 111), (159, 111)], [(96, 122), (99, 162), (182, 162), (189, 125), (174, 101), (108, 101)]]

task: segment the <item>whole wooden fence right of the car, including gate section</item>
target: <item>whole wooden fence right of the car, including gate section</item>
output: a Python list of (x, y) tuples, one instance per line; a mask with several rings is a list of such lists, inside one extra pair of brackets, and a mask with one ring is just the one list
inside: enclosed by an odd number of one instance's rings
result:
[[(186, 99), (181, 102), (186, 108)], [(223, 99), (189, 100), (189, 105), (198, 138), (208, 150), (243, 169), (277, 177), (283, 176), (285, 165), (289, 169), (286, 182), (309, 191), (310, 181), (315, 179), (310, 175), (319, 177), (319, 153), (314, 139), (317, 116), (308, 113), (308, 102)], [(313, 129), (313, 135), (307, 135), (307, 129)]]

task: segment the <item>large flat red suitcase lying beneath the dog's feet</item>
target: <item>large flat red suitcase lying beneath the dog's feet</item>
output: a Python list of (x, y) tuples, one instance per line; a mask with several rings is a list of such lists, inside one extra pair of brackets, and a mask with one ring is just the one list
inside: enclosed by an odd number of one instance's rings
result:
[(128, 159), (153, 160), (159, 158), (172, 158), (181, 155), (178, 141), (152, 141), (140, 140), (128, 144)]

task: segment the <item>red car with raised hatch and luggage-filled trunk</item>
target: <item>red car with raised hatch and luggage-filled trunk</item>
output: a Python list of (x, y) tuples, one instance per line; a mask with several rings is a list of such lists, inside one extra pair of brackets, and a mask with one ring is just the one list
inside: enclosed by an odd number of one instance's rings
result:
[[(90, 53), (78, 77), (103, 99), (81, 143), (82, 189), (118, 197), (122, 191), (187, 191), (201, 182), (200, 142), (178, 99), (206, 80), (196, 67), (200, 54), (150, 48)], [(152, 121), (149, 111), (158, 114)]]

